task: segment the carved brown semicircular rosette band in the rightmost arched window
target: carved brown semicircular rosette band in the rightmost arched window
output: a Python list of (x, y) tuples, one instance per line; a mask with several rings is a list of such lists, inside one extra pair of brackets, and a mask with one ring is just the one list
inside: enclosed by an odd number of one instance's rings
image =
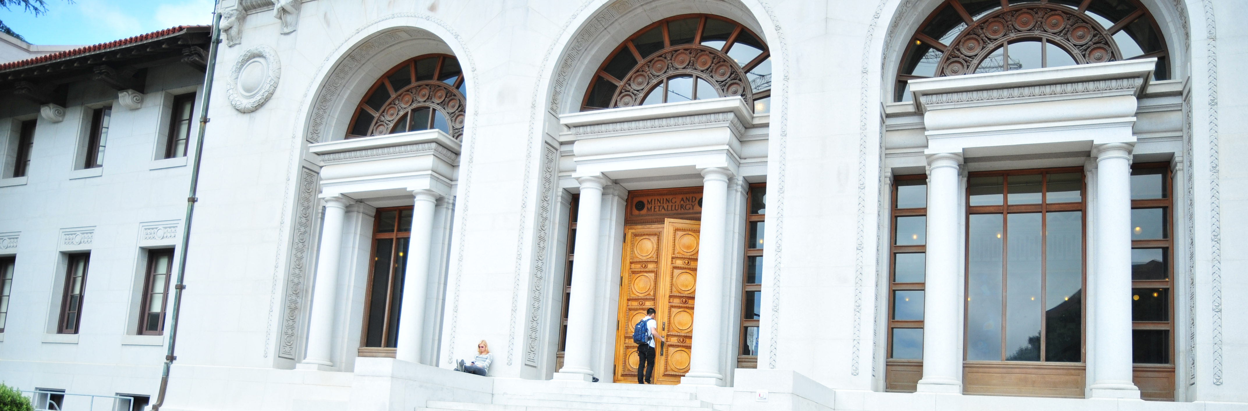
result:
[(941, 56), (936, 76), (972, 73), (1006, 42), (1041, 37), (1065, 49), (1081, 65), (1122, 60), (1113, 37), (1096, 21), (1058, 6), (1028, 5), (996, 11), (962, 31)]

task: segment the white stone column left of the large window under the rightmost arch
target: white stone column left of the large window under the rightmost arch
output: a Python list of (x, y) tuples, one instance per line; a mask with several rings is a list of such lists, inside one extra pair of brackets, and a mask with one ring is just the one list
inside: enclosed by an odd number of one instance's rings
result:
[(958, 164), (962, 156), (938, 153), (927, 156), (927, 253), (926, 286), (924, 291), (924, 376), (921, 392), (962, 392), (962, 350), (958, 347), (962, 321), (958, 290), (957, 247)]

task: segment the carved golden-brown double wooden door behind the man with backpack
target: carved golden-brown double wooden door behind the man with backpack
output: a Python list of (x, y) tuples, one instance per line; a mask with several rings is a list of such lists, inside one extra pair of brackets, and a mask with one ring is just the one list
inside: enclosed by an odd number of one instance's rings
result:
[(666, 338), (655, 344), (654, 382), (680, 384), (689, 372), (699, 230), (699, 222), (671, 218), (624, 228), (615, 382), (636, 382), (633, 326), (649, 308), (655, 309), (659, 334)]

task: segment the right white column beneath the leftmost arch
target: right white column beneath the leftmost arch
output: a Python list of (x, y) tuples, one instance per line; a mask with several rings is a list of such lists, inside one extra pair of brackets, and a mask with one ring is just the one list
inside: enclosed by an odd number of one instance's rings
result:
[(412, 191), (412, 237), (407, 243), (407, 270), (403, 272), (403, 300), (399, 303), (398, 342), (394, 359), (421, 362), (424, 335), (424, 296), (429, 284), (429, 252), (433, 242), (433, 207), (438, 193)]

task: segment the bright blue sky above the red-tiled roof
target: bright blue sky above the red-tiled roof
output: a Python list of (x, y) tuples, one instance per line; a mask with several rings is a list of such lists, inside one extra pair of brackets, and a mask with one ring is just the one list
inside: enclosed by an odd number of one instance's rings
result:
[(46, 0), (41, 16), (0, 7), (0, 21), (36, 45), (92, 45), (178, 25), (211, 24), (212, 0)]

